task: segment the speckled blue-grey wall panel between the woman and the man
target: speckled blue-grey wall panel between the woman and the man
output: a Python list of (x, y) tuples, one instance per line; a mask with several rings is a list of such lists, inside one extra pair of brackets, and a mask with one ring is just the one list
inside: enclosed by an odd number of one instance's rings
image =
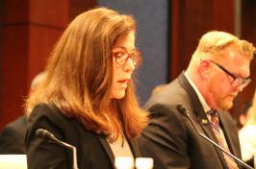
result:
[(157, 84), (168, 79), (168, 0), (99, 0), (99, 6), (134, 15), (142, 53), (137, 90), (141, 105)]

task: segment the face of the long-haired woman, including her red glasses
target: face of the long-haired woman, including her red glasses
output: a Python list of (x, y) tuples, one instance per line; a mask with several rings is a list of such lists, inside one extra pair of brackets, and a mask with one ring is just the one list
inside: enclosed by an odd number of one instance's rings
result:
[(112, 54), (114, 59), (111, 98), (121, 99), (125, 96), (127, 84), (131, 80), (137, 60), (141, 57), (135, 49), (135, 33), (132, 31), (128, 36), (117, 40)]

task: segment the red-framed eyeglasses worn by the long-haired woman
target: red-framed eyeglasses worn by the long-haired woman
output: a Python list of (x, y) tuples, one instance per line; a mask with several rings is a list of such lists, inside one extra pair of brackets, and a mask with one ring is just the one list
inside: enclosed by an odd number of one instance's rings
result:
[(141, 62), (141, 52), (137, 49), (128, 53), (125, 48), (120, 47), (120, 50), (113, 52), (113, 57), (115, 58), (115, 62), (121, 66), (123, 66), (129, 59), (133, 61), (135, 66), (138, 66)]

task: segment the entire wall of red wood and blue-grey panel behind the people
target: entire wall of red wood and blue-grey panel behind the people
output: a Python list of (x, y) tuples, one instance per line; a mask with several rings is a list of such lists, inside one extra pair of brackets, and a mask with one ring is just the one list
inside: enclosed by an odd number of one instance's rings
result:
[[(156, 85), (169, 83), (187, 68), (204, 33), (225, 31), (256, 45), (255, 0), (0, 0), (0, 130), (23, 114), (31, 81), (44, 69), (67, 24), (99, 6), (137, 20), (142, 64), (136, 84), (141, 106)], [(231, 110), (235, 119), (252, 99), (255, 59), (251, 79)]]

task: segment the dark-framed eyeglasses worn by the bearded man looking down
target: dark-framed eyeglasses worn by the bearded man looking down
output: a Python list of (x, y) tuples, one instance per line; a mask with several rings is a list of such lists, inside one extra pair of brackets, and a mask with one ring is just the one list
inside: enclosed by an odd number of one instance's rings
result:
[(221, 69), (223, 72), (225, 72), (226, 74), (228, 74), (229, 76), (231, 76), (233, 78), (232, 81), (232, 86), (234, 87), (245, 87), (247, 84), (249, 84), (251, 82), (251, 79), (249, 77), (247, 78), (241, 78), (241, 77), (237, 77), (235, 76), (233, 73), (231, 73), (230, 71), (228, 71), (227, 69), (225, 69), (222, 65), (218, 64), (217, 62), (210, 60), (212, 63), (216, 64), (218, 66), (219, 69)]

